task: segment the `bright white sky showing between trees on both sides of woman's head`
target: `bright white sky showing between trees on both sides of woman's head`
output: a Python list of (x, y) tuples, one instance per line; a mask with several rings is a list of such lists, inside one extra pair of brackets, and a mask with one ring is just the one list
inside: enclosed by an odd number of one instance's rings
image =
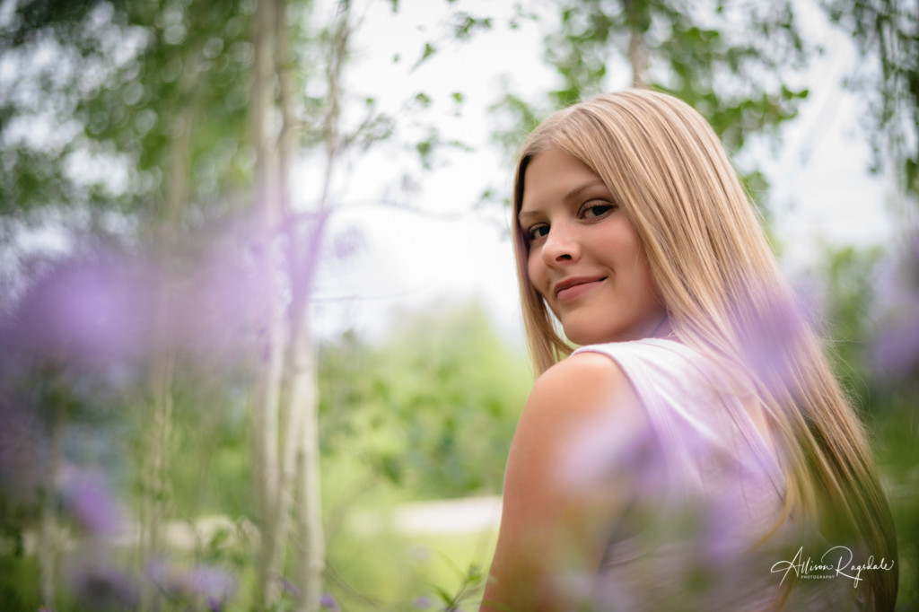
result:
[[(505, 7), (502, 17), (510, 17), (513, 6), (509, 1), (457, 4), (472, 15), (494, 15)], [(886, 183), (867, 171), (868, 146), (860, 130), (863, 102), (839, 85), (855, 65), (856, 52), (844, 34), (825, 24), (812, 0), (799, 5), (805, 29), (826, 53), (802, 75), (811, 97), (783, 132), (777, 152), (764, 148), (755, 153), (772, 182), (770, 206), (777, 235), (786, 244), (786, 265), (792, 268), (812, 264), (821, 244), (883, 244), (892, 233)], [(471, 43), (450, 43), (413, 71), (425, 41), (443, 38), (438, 36), (443, 19), (455, 5), (402, 0), (400, 6), (393, 16), (388, 3), (370, 4), (348, 86), (377, 95), (381, 108), (391, 112), (424, 91), (434, 103), (425, 111), (401, 113), (403, 142), (424, 134), (418, 125), (427, 121), (446, 138), (459, 138), (475, 150), (438, 156), (435, 170), (424, 173), (410, 155), (390, 144), (351, 169), (337, 188), (346, 205), (335, 214), (332, 235), (357, 236), (361, 246), (323, 273), (317, 302), (320, 333), (329, 336), (350, 326), (379, 334), (391, 309), (440, 308), (445, 300), (478, 297), (498, 327), (522, 346), (506, 211), (497, 203), (473, 207), (484, 188), (493, 187), (503, 198), (511, 183), (512, 168), (488, 142), (494, 119), (487, 108), (500, 94), (501, 79), (510, 79), (525, 97), (553, 85), (553, 74), (540, 59), (540, 26), (524, 21), (512, 31), (499, 17), (491, 31), (476, 34)], [(397, 54), (400, 61), (394, 63)], [(624, 85), (627, 79), (617, 80)], [(455, 91), (466, 98), (460, 116), (450, 97)], [(400, 188), (403, 175), (417, 183), (410, 193)], [(304, 173), (300, 178), (298, 192), (308, 197), (316, 177)], [(382, 193), (424, 212), (373, 204)]]

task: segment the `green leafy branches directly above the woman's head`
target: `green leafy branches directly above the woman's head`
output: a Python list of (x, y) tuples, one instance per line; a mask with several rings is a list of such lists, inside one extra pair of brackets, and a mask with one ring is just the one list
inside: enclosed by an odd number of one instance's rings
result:
[[(546, 37), (543, 58), (561, 83), (535, 102), (505, 87), (493, 108), (502, 123), (495, 141), (516, 153), (538, 119), (604, 93), (626, 73), (634, 84), (698, 109), (737, 153), (751, 135), (775, 133), (795, 117), (808, 96), (807, 88), (789, 85), (789, 68), (812, 51), (791, 4), (706, 3), (689, 10), (678, 0), (555, 0), (560, 28)], [(754, 169), (748, 177), (762, 183)]]

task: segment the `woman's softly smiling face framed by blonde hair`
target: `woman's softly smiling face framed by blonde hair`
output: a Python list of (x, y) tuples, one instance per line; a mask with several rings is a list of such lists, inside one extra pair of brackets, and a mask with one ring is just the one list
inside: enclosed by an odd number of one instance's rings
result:
[(530, 160), (518, 215), (529, 281), (578, 344), (649, 337), (666, 309), (630, 221), (593, 170), (550, 148)]

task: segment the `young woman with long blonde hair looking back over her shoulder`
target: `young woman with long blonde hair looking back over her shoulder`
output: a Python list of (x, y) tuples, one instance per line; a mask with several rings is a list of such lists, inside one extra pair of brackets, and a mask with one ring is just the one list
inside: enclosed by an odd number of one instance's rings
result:
[(539, 379), (482, 609), (893, 608), (865, 432), (695, 110), (632, 90), (547, 119), (514, 240)]

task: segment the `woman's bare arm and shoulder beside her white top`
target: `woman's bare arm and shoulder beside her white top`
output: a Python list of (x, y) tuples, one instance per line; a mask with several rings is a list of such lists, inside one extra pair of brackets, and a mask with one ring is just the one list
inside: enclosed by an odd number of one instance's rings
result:
[[(505, 472), (504, 508), (482, 610), (572, 606), (596, 574), (631, 491), (619, 451), (647, 427), (609, 357), (568, 357), (539, 377)], [(583, 590), (583, 589), (582, 589)], [(585, 594), (586, 595), (586, 594)]]

